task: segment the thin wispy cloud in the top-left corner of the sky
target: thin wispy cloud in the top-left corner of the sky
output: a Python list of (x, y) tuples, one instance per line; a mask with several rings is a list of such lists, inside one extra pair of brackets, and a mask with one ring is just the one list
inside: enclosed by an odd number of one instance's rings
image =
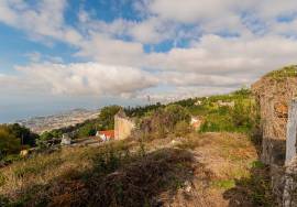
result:
[(66, 0), (42, 0), (33, 8), (24, 0), (0, 1), (0, 21), (26, 31), (34, 39), (43, 36), (76, 44), (81, 35), (64, 22)]

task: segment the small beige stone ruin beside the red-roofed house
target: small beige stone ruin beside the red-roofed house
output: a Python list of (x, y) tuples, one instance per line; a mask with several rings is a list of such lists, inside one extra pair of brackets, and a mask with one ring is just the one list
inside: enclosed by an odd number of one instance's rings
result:
[(121, 110), (114, 116), (114, 139), (116, 140), (127, 139), (129, 135), (131, 135), (134, 128), (135, 128), (134, 121), (128, 118), (124, 111)]

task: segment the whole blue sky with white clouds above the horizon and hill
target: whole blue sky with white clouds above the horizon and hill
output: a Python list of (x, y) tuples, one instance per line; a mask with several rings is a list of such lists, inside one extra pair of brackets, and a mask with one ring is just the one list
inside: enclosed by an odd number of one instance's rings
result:
[(229, 92), (296, 61), (296, 0), (1, 0), (0, 122)]

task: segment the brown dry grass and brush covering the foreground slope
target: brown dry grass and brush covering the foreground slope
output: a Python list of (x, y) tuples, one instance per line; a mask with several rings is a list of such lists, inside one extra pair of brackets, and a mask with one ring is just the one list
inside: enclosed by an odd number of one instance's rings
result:
[(270, 206), (265, 170), (242, 134), (131, 139), (65, 148), (3, 167), (0, 201), (2, 206)]

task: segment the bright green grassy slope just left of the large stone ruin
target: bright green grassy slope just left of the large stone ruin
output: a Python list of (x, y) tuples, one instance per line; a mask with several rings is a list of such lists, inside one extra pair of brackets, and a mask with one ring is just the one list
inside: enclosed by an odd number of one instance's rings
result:
[[(188, 101), (186, 108), (204, 120), (200, 132), (242, 132), (252, 135), (258, 120), (255, 100), (249, 89), (197, 100), (201, 101), (199, 106)], [(221, 107), (219, 101), (234, 102), (234, 107)]]

